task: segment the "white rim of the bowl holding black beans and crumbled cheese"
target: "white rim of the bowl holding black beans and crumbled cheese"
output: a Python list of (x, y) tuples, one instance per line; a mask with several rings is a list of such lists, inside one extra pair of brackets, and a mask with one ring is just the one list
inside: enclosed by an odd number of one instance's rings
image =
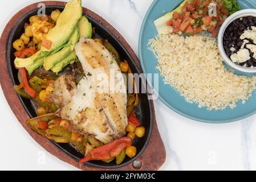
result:
[(233, 61), (230, 60), (230, 58), (226, 55), (224, 46), (223, 46), (223, 36), (226, 28), (229, 26), (230, 23), (232, 23), (234, 20), (238, 18), (243, 18), (245, 16), (255, 16), (256, 17), (256, 10), (255, 9), (246, 9), (246, 10), (240, 10), (237, 11), (236, 13), (232, 14), (225, 20), (225, 22), (222, 24), (221, 29), (218, 34), (218, 48), (220, 50), (220, 55), (224, 59), (225, 63), (229, 65), (230, 67), (237, 69), (238, 71), (241, 72), (246, 72), (246, 73), (256, 73), (256, 68), (246, 68), (242, 67), (240, 65), (237, 65), (233, 63)]

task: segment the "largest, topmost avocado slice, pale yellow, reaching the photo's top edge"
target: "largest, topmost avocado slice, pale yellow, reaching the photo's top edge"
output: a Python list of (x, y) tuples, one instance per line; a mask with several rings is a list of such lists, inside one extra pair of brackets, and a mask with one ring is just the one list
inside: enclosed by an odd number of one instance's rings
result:
[(54, 51), (71, 38), (79, 19), (82, 17), (82, 0), (72, 0), (67, 3), (65, 9), (60, 14), (56, 26), (52, 28), (46, 40), (52, 42), (51, 48), (41, 47), (41, 51)]

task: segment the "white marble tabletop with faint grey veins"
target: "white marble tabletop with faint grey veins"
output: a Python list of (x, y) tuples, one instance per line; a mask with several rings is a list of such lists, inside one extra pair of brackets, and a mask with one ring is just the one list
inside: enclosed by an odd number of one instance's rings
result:
[[(83, 0), (103, 16), (138, 53), (140, 26), (153, 0)], [(161, 1), (161, 0), (159, 0)], [(1, 0), (0, 31), (10, 17), (33, 0)], [(151, 23), (151, 22), (149, 22)], [(19, 125), (2, 92), (0, 169), (76, 170), (44, 151)], [(256, 116), (224, 125), (186, 119), (155, 101), (157, 123), (167, 157), (161, 170), (256, 170)]]

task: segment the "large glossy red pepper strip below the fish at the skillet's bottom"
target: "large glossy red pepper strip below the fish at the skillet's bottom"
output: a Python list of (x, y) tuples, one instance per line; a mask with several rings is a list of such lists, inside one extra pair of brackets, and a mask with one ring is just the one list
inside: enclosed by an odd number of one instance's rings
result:
[(124, 148), (131, 145), (132, 139), (129, 137), (114, 140), (111, 143), (104, 144), (103, 146), (90, 151), (83, 159), (79, 160), (79, 164), (81, 165), (89, 160), (108, 160), (115, 158), (120, 154), (121, 151), (124, 150)]

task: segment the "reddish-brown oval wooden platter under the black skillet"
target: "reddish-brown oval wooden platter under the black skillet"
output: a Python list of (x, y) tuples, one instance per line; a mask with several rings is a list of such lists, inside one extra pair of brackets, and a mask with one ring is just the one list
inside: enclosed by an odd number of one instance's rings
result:
[[(9, 103), (11, 110), (13, 110), (13, 113), (16, 115), (18, 121), (21, 123), (21, 125), (25, 128), (27, 133), (30, 134), (30, 136), (36, 140), (42, 146), (45, 150), (50, 152), (52, 155), (56, 156), (60, 160), (63, 160), (64, 162), (71, 164), (72, 166), (75, 166), (77, 168), (80, 168), (82, 170), (136, 170), (133, 168), (132, 163), (128, 164), (127, 166), (120, 167), (120, 168), (92, 168), (88, 166), (81, 166), (79, 167), (78, 160), (75, 160), (72, 158), (72, 156), (68, 155), (66, 152), (61, 150), (59, 147), (57, 147), (54, 143), (52, 143), (50, 140), (40, 136), (39, 134), (35, 133), (30, 129), (29, 126), (27, 126), (26, 121), (27, 119), (30, 119), (29, 115), (26, 113), (25, 108), (23, 108), (21, 102), (19, 101), (19, 98), (17, 94), (13, 90), (13, 84), (11, 81), (11, 77), (8, 71), (7, 67), (7, 41), (9, 34), (15, 24), (18, 23), (18, 20), (20, 17), (27, 14), (27, 12), (34, 10), (37, 8), (38, 3), (44, 3), (46, 6), (55, 5), (55, 6), (64, 6), (66, 2), (60, 2), (60, 1), (44, 1), (44, 2), (37, 2), (32, 5), (29, 5), (25, 7), (24, 9), (20, 10), (17, 14), (13, 16), (13, 18), (10, 19), (9, 23), (7, 23), (5, 29), (3, 30), (1, 39), (0, 39), (0, 64), (1, 66), (1, 72), (0, 72), (0, 83), (3, 90), (3, 93), (5, 94), (6, 100)], [(137, 67), (140, 67), (139, 59), (137, 58), (135, 52), (133, 52), (132, 48), (128, 45), (128, 43), (125, 41), (123, 36), (119, 34), (113, 28), (106, 20), (101, 18), (99, 15), (93, 13), (92, 11), (83, 8), (83, 13), (91, 16), (94, 18), (97, 22), (101, 23), (104, 27), (106, 27), (112, 35), (115, 36), (116, 39), (119, 40), (119, 42), (124, 46), (124, 48), (128, 51), (129, 55), (132, 56), (133, 60), (135, 60)], [(148, 88), (149, 89), (149, 88)], [(140, 169), (137, 170), (157, 170), (159, 169), (162, 164), (165, 162), (166, 154), (165, 154), (165, 148), (164, 144), (161, 140), (159, 131), (157, 129), (157, 123), (155, 118), (155, 110), (153, 107), (153, 101), (151, 101), (152, 104), (152, 111), (153, 111), (153, 129), (152, 129), (152, 135), (151, 139), (148, 143), (147, 148), (143, 152), (142, 155), (139, 156), (136, 160), (139, 160), (142, 163), (142, 166)]]

